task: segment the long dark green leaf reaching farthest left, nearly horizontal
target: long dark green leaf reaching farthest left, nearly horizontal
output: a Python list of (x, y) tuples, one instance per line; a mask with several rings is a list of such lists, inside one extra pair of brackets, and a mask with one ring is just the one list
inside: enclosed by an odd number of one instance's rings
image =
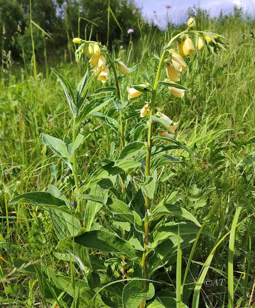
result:
[[(70, 208), (66, 206), (66, 202), (63, 199), (53, 196), (49, 192), (39, 191), (39, 192), (23, 193), (22, 195), (14, 197), (8, 204), (16, 204), (18, 202), (35, 204), (45, 208), (65, 212), (71, 215)], [(75, 209), (72, 209), (72, 211), (76, 219), (78, 220), (82, 219), (82, 215), (79, 211), (76, 211)]]

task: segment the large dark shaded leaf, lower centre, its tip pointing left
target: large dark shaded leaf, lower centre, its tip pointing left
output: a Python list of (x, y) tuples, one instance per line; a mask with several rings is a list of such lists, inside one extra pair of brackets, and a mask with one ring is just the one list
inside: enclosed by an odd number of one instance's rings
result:
[(116, 253), (139, 263), (139, 254), (126, 240), (106, 230), (90, 230), (74, 237), (75, 243), (102, 252)]

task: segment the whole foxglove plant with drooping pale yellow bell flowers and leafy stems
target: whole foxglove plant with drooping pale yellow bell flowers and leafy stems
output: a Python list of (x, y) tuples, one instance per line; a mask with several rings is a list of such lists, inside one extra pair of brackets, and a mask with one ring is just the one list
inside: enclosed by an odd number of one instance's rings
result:
[[(74, 43), (81, 44), (76, 51), (76, 61), (88, 58), (92, 67), (92, 75), (87, 69), (78, 84), (76, 98), (68, 81), (53, 70), (62, 84), (73, 115), (73, 136), (72, 139), (64, 136), (60, 140), (43, 135), (42, 141), (72, 170), (75, 180), (73, 195), (78, 206), (75, 208), (70, 204), (53, 185), (49, 186), (48, 192), (25, 193), (12, 199), (10, 204), (25, 202), (49, 210), (59, 239), (57, 248), (69, 252), (73, 265), (70, 277), (62, 275), (60, 280), (56, 278), (53, 281), (58, 289), (73, 298), (72, 307), (187, 307), (186, 303), (193, 291), (190, 284), (193, 277), (198, 276), (198, 268), (191, 265), (193, 253), (200, 235), (211, 235), (204, 230), (205, 222), (201, 226), (186, 209), (170, 203), (169, 197), (155, 200), (155, 190), (159, 184), (158, 171), (162, 166), (187, 164), (185, 160), (169, 155), (169, 151), (181, 149), (197, 158), (189, 148), (174, 139), (178, 122), (160, 111), (157, 91), (159, 86), (167, 86), (177, 98), (182, 98), (185, 91), (189, 91), (178, 82), (180, 74), (188, 69), (184, 58), (195, 51), (192, 35), (195, 35), (195, 46), (199, 51), (205, 45), (213, 54), (225, 50), (221, 35), (208, 30), (194, 30), (194, 27), (195, 20), (190, 18), (186, 30), (172, 33), (172, 39), (163, 47), (161, 56), (155, 52), (159, 63), (153, 86), (147, 81), (132, 84), (127, 87), (127, 101), (122, 99), (119, 82), (132, 73), (137, 65), (128, 68), (119, 59), (112, 60), (101, 43), (74, 39)], [(173, 45), (175, 42), (177, 47)], [(121, 72), (119, 76), (115, 63)], [(163, 67), (166, 78), (161, 80)], [(92, 80), (97, 76), (98, 81), (105, 84), (110, 78), (110, 70), (114, 73), (115, 86), (99, 88), (89, 95)], [(93, 96), (105, 93), (111, 95), (93, 99)], [(143, 94), (150, 97), (149, 102), (145, 102), (138, 110), (126, 111), (128, 101)], [(114, 105), (107, 109), (111, 101)], [(102, 108), (107, 111), (99, 112)], [(88, 178), (79, 179), (76, 151), (82, 144), (83, 136), (77, 135), (76, 131), (88, 116), (105, 121), (117, 134), (120, 146), (119, 151), (111, 151), (110, 156), (98, 160), (97, 165), (101, 167)], [(139, 116), (141, 121), (125, 136), (127, 121)], [(157, 129), (154, 129), (155, 124), (158, 125)], [(147, 140), (141, 141), (144, 132)], [(137, 169), (140, 169), (141, 176), (137, 176)], [(83, 206), (84, 200), (86, 206)], [(106, 225), (95, 222), (101, 209), (110, 217)], [(177, 217), (178, 222), (166, 220), (166, 217)], [(185, 272), (182, 273), (181, 250), (192, 242), (193, 248)], [(102, 253), (102, 258), (94, 256), (94, 249)], [(170, 278), (169, 268), (174, 268), (176, 260), (175, 286), (173, 283), (163, 284), (166, 276), (160, 269), (164, 268)], [(82, 270), (83, 280), (74, 277), (74, 261)], [(18, 267), (21, 261), (15, 262)], [(202, 277), (205, 277), (208, 267), (203, 269)], [(52, 275), (58, 276), (57, 273), (52, 272)], [(193, 307), (198, 306), (201, 279), (195, 285)]]

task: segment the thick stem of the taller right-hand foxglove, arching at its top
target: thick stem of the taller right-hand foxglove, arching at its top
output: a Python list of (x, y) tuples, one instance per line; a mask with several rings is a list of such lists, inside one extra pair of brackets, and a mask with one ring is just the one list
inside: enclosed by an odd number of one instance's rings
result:
[[(177, 40), (181, 34), (185, 34), (188, 31), (185, 30), (181, 33), (178, 33), (176, 36), (174, 36), (170, 42), (167, 44), (167, 46), (164, 48), (164, 51), (161, 55), (161, 59), (158, 65), (158, 69), (157, 69), (157, 75), (156, 75), (156, 79), (154, 82), (154, 86), (153, 86), (153, 91), (152, 91), (152, 95), (151, 95), (151, 105), (150, 105), (150, 113), (149, 116), (152, 116), (154, 114), (154, 107), (155, 107), (155, 99), (156, 99), (156, 94), (157, 94), (157, 87), (158, 87), (158, 82), (160, 79), (160, 74), (161, 74), (161, 69), (165, 60), (165, 55), (167, 53), (167, 47), (170, 47), (173, 42), (175, 40)], [(151, 157), (151, 148), (152, 148), (152, 121), (149, 120), (149, 127), (148, 127), (148, 149), (147, 149), (147, 153), (146, 153), (146, 169), (145, 169), (145, 176), (149, 176), (150, 175), (150, 157)], [(145, 215), (147, 213), (147, 210), (149, 210), (150, 208), (150, 199), (149, 197), (146, 195), (145, 196)], [(145, 233), (145, 238), (144, 238), (144, 251), (143, 251), (143, 255), (142, 255), (142, 264), (141, 266), (144, 267), (143, 270), (143, 280), (142, 281), (142, 288), (143, 290), (145, 290), (148, 286), (148, 254), (146, 254), (146, 248), (149, 244), (149, 222), (144, 222), (144, 233)], [(140, 308), (145, 308), (145, 301), (142, 301), (140, 304)]]

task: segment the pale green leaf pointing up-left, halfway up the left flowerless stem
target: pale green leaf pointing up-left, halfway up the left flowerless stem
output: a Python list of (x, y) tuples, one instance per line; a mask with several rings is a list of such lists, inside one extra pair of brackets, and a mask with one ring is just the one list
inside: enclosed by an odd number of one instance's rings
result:
[(70, 155), (66, 149), (66, 145), (63, 140), (58, 139), (56, 137), (42, 134), (42, 142), (47, 145), (51, 151), (53, 151), (56, 155), (58, 155), (71, 170), (73, 170), (73, 166), (70, 162)]

